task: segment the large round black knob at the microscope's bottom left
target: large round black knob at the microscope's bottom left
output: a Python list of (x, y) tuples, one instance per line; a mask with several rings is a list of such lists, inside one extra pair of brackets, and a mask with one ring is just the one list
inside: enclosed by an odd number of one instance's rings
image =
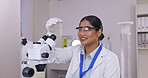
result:
[(22, 71), (24, 77), (32, 77), (34, 75), (34, 69), (30, 67), (25, 67)]

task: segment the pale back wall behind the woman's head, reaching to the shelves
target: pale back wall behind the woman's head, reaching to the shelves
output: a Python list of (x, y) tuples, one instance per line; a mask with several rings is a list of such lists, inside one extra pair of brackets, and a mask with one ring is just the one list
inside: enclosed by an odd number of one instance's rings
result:
[[(137, 78), (136, 69), (136, 11), (135, 0), (50, 0), (50, 17), (59, 17), (63, 20), (63, 35), (71, 35), (77, 38), (75, 28), (80, 19), (89, 14), (101, 18), (104, 26), (104, 34), (110, 34), (112, 50), (120, 58), (120, 26), (118, 22), (133, 21), (132, 25), (132, 55), (131, 78)], [(61, 47), (61, 35), (59, 30), (57, 46)]]

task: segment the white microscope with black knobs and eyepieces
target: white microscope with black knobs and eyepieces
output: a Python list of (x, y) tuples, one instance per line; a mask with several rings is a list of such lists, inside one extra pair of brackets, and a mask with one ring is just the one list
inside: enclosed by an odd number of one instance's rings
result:
[(22, 78), (31, 78), (35, 74), (33, 66), (37, 72), (44, 71), (48, 59), (52, 58), (53, 47), (55, 46), (56, 36), (44, 35), (37, 42), (31, 42), (22, 38)]

